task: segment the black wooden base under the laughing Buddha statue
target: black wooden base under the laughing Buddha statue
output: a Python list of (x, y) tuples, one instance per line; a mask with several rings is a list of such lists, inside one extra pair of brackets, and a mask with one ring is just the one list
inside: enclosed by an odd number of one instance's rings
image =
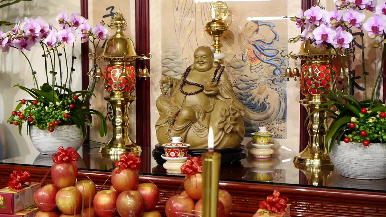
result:
[[(166, 161), (161, 158), (161, 155), (165, 154), (164, 148), (159, 144), (156, 144), (156, 148), (152, 151), (152, 156), (156, 160), (157, 164), (163, 164)], [(201, 156), (202, 153), (207, 152), (207, 149), (189, 149), (188, 154), (193, 157)], [(221, 154), (221, 166), (230, 166), (233, 163), (238, 163), (241, 159), (247, 157), (247, 152), (242, 144), (239, 144), (234, 148), (215, 149), (215, 152)]]

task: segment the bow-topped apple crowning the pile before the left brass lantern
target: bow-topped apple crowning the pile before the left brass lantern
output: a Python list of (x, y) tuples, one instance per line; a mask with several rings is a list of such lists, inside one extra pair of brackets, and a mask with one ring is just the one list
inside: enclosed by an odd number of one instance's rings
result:
[(115, 161), (115, 170), (111, 175), (111, 184), (118, 193), (136, 190), (138, 187), (138, 171), (141, 168), (141, 158), (132, 153), (123, 153), (119, 161)]

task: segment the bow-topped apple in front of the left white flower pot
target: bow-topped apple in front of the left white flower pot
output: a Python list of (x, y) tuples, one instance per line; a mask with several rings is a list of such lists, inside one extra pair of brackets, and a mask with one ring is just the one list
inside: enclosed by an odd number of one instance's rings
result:
[(73, 147), (64, 150), (63, 146), (60, 146), (58, 153), (53, 154), (54, 164), (51, 167), (51, 178), (56, 188), (74, 186), (78, 174), (78, 166), (76, 166), (78, 157), (79, 154)]

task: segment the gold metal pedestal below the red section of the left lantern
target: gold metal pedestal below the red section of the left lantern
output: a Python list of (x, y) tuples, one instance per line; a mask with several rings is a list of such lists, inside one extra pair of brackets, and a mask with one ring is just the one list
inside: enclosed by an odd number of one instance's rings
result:
[(128, 111), (130, 104), (135, 100), (129, 92), (111, 92), (110, 96), (105, 97), (113, 110), (113, 136), (109, 142), (100, 148), (102, 156), (110, 159), (119, 159), (122, 153), (141, 154), (141, 147), (137, 146), (129, 137)]

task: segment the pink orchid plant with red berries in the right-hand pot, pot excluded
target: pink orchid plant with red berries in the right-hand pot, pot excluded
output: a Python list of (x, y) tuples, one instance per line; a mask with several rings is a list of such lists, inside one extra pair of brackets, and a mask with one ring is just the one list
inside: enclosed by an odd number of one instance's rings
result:
[[(332, 61), (332, 51), (335, 51), (340, 59), (344, 80), (346, 82), (346, 93), (337, 90), (336, 85), (332, 85), (334, 90), (321, 90), (322, 95), (328, 98), (329, 102), (322, 106), (334, 105), (336, 111), (330, 108), (318, 108), (313, 113), (324, 110), (330, 113), (327, 118), (333, 119), (326, 139), (326, 146), (332, 150), (334, 142), (343, 140), (349, 142), (362, 142), (364, 146), (369, 146), (371, 142), (385, 142), (386, 136), (384, 127), (386, 117), (386, 106), (379, 100), (380, 84), (383, 75), (384, 59), (386, 58), (386, 1), (383, 0), (379, 5), (375, 5), (375, 0), (334, 0), (335, 8), (327, 11), (319, 6), (311, 7), (303, 12), (299, 17), (291, 17), (296, 25), (304, 30), (300, 36), (290, 39), (290, 42), (310, 41), (315, 47), (326, 48)], [(374, 12), (372, 17), (366, 20), (364, 10)], [(347, 64), (350, 68), (349, 54), (352, 53), (350, 44), (353, 40), (349, 29), (356, 28), (361, 31), (363, 44), (364, 31), (370, 39), (376, 41), (374, 47), (382, 49), (381, 69), (372, 90), (371, 99), (367, 99), (366, 93), (366, 66), (365, 66), (365, 47), (362, 46), (362, 67), (364, 79), (364, 100), (358, 102), (350, 93), (351, 82), (350, 73), (347, 73), (342, 58), (347, 57)], [(338, 51), (344, 49), (344, 54)], [(332, 70), (332, 62), (330, 63)], [(334, 75), (334, 74), (333, 74)], [(331, 76), (334, 79), (334, 76)], [(333, 82), (334, 84), (334, 82)], [(312, 115), (311, 113), (310, 115)], [(330, 142), (329, 142), (330, 140)], [(330, 144), (328, 144), (330, 143)]]

